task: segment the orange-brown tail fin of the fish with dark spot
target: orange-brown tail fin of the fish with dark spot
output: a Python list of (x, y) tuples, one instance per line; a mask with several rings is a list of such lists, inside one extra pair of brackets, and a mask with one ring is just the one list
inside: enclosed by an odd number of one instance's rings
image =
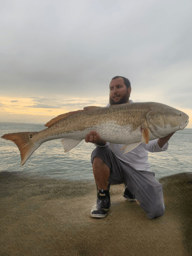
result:
[(38, 132), (26, 132), (26, 133), (9, 133), (2, 136), (2, 139), (13, 141), (19, 151), (22, 162), (20, 166), (24, 165), (27, 159), (33, 154), (33, 152), (40, 146), (34, 143), (33, 136)]

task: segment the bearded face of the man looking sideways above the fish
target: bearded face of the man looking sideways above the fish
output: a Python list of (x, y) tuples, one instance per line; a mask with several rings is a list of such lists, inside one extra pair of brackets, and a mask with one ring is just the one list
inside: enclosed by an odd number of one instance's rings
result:
[(111, 80), (110, 83), (110, 104), (123, 104), (129, 102), (131, 87), (126, 89), (122, 78)]

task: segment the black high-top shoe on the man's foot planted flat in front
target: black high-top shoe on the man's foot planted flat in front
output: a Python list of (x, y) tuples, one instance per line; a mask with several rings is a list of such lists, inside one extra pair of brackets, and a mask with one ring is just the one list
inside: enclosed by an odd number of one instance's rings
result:
[(110, 193), (108, 190), (101, 189), (97, 193), (97, 205), (90, 212), (93, 218), (104, 218), (110, 208)]

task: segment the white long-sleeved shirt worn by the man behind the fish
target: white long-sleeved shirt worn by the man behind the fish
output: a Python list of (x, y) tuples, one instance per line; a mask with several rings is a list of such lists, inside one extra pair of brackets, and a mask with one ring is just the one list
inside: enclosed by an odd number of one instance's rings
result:
[[(133, 103), (133, 101), (130, 100), (130, 103)], [(108, 104), (106, 107), (108, 107), (109, 105), (110, 104)], [(114, 144), (106, 142), (105, 146), (109, 146), (113, 153), (115, 153), (117, 158), (119, 158), (121, 161), (129, 163), (135, 169), (150, 171), (150, 163), (148, 162), (148, 152), (163, 152), (166, 151), (168, 148), (168, 142), (162, 148), (160, 148), (157, 141), (158, 139), (151, 140), (150, 142), (148, 142), (148, 144), (141, 143), (132, 151), (126, 154), (123, 154), (124, 151), (120, 151), (123, 144)]]

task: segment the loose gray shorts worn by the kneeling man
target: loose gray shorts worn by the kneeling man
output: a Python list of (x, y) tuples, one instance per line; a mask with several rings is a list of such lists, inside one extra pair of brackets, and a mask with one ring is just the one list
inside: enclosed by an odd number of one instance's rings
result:
[(140, 206), (148, 218), (153, 219), (164, 214), (163, 188), (155, 179), (155, 173), (136, 170), (130, 164), (118, 159), (108, 146), (96, 147), (92, 152), (92, 163), (94, 157), (101, 158), (110, 168), (108, 182), (112, 184), (124, 183), (139, 200)]

